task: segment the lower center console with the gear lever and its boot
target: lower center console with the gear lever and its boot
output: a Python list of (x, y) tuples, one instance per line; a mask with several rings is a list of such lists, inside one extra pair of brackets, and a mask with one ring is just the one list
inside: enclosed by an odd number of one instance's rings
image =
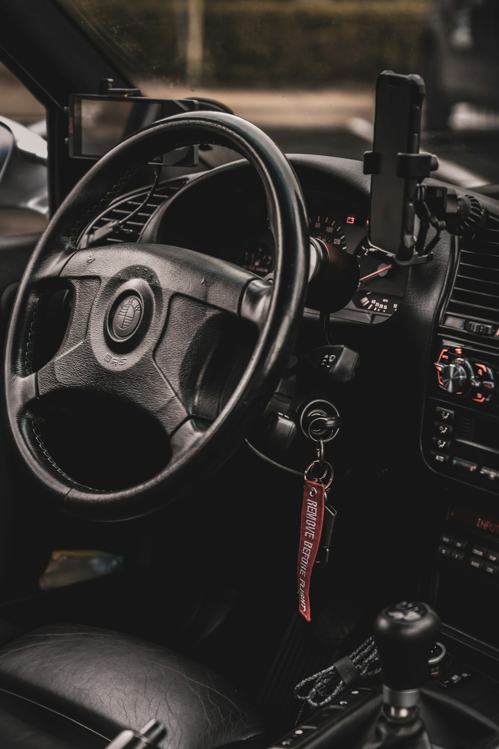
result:
[[(490, 694), (497, 706), (499, 686), (447, 654), (436, 639), (440, 622), (431, 607), (421, 601), (391, 604), (376, 617), (373, 632), (382, 672), (377, 683), (371, 688), (356, 684), (345, 688), (326, 706), (302, 718), (273, 748), (498, 746), (499, 726), (486, 714), (483, 697)], [(340, 661), (343, 667), (344, 661)], [(469, 686), (470, 694), (465, 694)], [(477, 694), (477, 706), (470, 706), (471, 695)]]

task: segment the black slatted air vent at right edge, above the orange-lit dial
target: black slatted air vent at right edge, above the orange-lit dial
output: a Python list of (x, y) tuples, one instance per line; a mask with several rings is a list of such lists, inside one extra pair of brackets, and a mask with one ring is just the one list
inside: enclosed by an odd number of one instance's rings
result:
[(463, 239), (459, 267), (447, 313), (468, 321), (499, 326), (499, 219), (487, 216), (486, 225), (471, 239)]

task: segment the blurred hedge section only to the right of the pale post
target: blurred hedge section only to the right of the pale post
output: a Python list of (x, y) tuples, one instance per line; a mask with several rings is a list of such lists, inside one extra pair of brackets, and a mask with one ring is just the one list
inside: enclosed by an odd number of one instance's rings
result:
[[(421, 6), (414, 2), (209, 4), (206, 70), (219, 85), (324, 86), (373, 82), (417, 64)], [(218, 29), (223, 29), (223, 37)]]

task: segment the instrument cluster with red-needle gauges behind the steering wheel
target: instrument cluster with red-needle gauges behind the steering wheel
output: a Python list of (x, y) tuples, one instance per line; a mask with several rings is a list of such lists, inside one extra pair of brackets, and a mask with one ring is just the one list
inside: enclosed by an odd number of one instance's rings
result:
[[(180, 189), (146, 225), (142, 239), (206, 252), (272, 280), (274, 240), (266, 202), (248, 169), (239, 167), (236, 187), (227, 180), (236, 168), (211, 172), (209, 179), (198, 177)], [(374, 254), (367, 240), (367, 201), (320, 185), (304, 187), (304, 200), (310, 237), (352, 255), (358, 264), (358, 288), (340, 310), (331, 300), (334, 316), (371, 324), (393, 315), (404, 297), (408, 270)], [(319, 311), (321, 305), (312, 297), (307, 306)]]

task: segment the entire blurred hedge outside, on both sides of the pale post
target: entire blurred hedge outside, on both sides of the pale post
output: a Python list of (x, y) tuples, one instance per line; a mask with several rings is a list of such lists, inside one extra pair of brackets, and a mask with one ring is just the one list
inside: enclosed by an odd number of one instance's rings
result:
[[(417, 72), (428, 1), (205, 0), (203, 80), (197, 83), (372, 85), (385, 68)], [(109, 26), (111, 56), (120, 56), (132, 79), (176, 84), (185, 77), (185, 8), (185, 1), (82, 0), (79, 12)]]

